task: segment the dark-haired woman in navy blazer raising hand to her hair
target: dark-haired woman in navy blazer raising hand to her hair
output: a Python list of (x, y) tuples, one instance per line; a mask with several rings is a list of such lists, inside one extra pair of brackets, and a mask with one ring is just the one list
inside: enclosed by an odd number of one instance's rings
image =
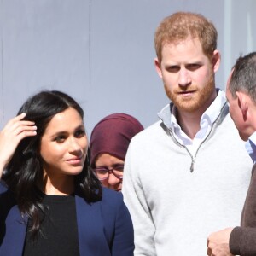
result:
[(0, 132), (0, 255), (133, 255), (122, 195), (88, 168), (83, 118), (67, 94), (42, 91)]

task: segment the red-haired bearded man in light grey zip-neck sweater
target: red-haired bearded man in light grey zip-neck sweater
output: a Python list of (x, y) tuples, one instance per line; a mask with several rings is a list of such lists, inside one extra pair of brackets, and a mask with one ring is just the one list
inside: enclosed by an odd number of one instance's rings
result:
[(217, 31), (202, 15), (166, 17), (154, 38), (157, 73), (171, 103), (131, 140), (123, 194), (135, 255), (204, 256), (212, 230), (236, 225), (251, 160), (215, 87)]

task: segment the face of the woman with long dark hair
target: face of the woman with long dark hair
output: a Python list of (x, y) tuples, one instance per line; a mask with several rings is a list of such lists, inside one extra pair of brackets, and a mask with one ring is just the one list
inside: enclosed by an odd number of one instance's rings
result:
[(74, 108), (55, 114), (41, 139), (44, 174), (52, 179), (79, 174), (84, 166), (88, 140), (83, 119)]

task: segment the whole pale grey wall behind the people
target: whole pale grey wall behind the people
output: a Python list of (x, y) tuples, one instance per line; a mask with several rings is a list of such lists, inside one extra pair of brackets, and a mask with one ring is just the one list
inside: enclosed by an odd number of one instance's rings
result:
[(154, 31), (178, 10), (201, 13), (217, 27), (216, 79), (224, 89), (238, 55), (256, 50), (254, 0), (2, 0), (0, 129), (43, 89), (81, 103), (89, 135), (108, 113), (152, 124), (169, 102), (154, 71)]

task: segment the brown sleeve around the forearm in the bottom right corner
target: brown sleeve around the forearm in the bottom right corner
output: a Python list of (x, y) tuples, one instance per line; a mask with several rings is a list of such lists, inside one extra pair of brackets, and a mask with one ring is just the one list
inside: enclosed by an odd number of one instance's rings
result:
[(230, 253), (241, 256), (256, 255), (256, 228), (236, 227), (232, 230)]

